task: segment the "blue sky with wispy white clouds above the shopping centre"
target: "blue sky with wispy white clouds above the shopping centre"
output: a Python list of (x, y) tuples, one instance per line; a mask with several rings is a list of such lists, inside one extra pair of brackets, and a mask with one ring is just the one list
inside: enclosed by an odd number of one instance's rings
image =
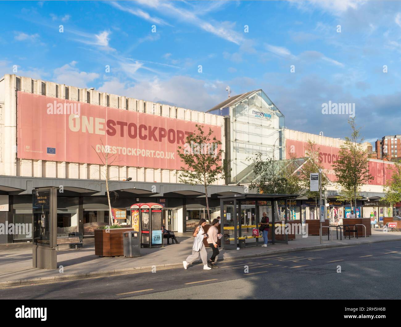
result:
[(348, 115), (322, 114), (331, 101), (355, 103), (368, 141), (401, 133), (398, 1), (12, 1), (0, 11), (0, 75), (17, 65), (17, 75), (200, 111), (227, 85), (263, 89), (290, 129), (348, 135)]

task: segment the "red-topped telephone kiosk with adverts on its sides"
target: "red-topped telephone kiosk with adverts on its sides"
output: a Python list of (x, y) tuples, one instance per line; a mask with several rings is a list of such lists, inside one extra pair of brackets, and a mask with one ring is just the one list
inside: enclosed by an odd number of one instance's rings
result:
[(136, 203), (130, 208), (132, 228), (140, 233), (141, 246), (163, 245), (163, 206), (158, 203)]

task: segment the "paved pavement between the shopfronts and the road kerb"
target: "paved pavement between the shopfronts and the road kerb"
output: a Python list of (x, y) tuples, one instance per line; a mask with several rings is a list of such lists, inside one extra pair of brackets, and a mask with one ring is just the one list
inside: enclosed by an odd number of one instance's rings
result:
[[(334, 234), (335, 235), (335, 234)], [(373, 230), (372, 236), (367, 238), (351, 238), (350, 240), (328, 241), (324, 238), (323, 244), (319, 243), (319, 236), (290, 240), (288, 244), (275, 244), (267, 248), (251, 247), (237, 250), (223, 250), (219, 260), (224, 261), (265, 256), (276, 253), (288, 253), (305, 249), (318, 249), (327, 247), (349, 246), (371, 242), (388, 240), (401, 240), (401, 232), (383, 233), (381, 230)], [(192, 236), (190, 233), (179, 234), (180, 244), (170, 244), (164, 248), (141, 249), (139, 258), (99, 257), (95, 256), (93, 239), (84, 240), (84, 248), (75, 250), (68, 246), (61, 246), (57, 254), (57, 270), (45, 270), (32, 268), (32, 248), (25, 244), (10, 244), (0, 246), (0, 287), (13, 285), (30, 285), (47, 283), (51, 281), (73, 280), (96, 276), (109, 276), (116, 274), (132, 273), (140, 270), (156, 268), (172, 268), (182, 264), (192, 248)], [(210, 255), (211, 250), (208, 248)], [(62, 267), (61, 267), (62, 266)]]

